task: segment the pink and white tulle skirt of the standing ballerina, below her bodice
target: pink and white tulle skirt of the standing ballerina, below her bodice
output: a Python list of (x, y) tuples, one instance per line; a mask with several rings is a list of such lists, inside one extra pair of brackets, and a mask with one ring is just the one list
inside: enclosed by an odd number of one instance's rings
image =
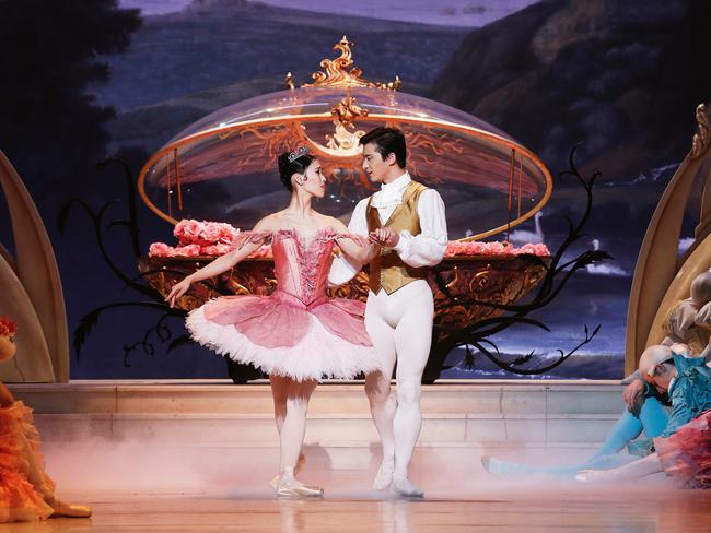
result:
[(198, 343), (268, 375), (352, 379), (380, 369), (362, 313), (360, 301), (324, 298), (306, 307), (277, 292), (208, 301), (186, 325)]

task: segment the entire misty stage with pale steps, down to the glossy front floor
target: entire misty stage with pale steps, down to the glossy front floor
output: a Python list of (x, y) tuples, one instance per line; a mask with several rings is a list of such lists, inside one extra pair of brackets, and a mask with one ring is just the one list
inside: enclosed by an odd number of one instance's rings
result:
[(14, 532), (711, 532), (711, 490), (662, 476), (628, 486), (504, 482), (481, 455), (579, 464), (619, 417), (622, 387), (601, 382), (424, 388), (410, 474), (427, 493), (370, 489), (380, 463), (362, 384), (317, 389), (301, 479), (323, 500), (276, 500), (279, 462), (267, 384), (173, 381), (15, 386), (35, 408), (58, 494), (91, 519), (0, 525)]

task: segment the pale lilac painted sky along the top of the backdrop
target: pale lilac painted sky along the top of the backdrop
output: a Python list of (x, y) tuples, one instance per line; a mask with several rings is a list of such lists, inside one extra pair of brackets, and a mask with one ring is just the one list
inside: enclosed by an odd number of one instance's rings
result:
[[(144, 15), (179, 11), (193, 0), (119, 0)], [(261, 0), (260, 3), (320, 13), (370, 16), (391, 21), (476, 27), (506, 16), (538, 0)]]

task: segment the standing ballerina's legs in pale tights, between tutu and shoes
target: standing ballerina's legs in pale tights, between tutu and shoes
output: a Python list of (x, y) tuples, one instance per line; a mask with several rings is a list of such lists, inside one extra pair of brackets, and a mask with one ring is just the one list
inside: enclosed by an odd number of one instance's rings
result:
[(304, 443), (308, 400), (316, 388), (316, 381), (294, 381), (281, 376), (269, 376), (269, 382), (275, 401), (275, 421), (279, 431), (279, 472), (287, 477), (292, 477)]

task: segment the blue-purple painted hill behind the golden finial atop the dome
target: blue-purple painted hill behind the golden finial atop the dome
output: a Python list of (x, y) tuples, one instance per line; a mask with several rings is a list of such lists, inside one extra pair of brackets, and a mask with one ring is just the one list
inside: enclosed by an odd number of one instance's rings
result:
[[(145, 17), (131, 48), (107, 58), (110, 82), (95, 93), (119, 112), (201, 91), (318, 69), (343, 35), (372, 80), (399, 74), (432, 84), (469, 29), (271, 8), (242, 0), (194, 2)], [(298, 80), (306, 82), (307, 79)]]

